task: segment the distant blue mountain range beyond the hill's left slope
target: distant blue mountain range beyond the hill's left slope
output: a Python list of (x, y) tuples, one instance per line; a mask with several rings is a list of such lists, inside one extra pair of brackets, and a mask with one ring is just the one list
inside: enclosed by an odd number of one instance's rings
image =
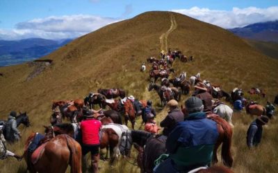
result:
[(0, 66), (10, 66), (38, 59), (52, 53), (57, 48), (71, 42), (72, 39), (20, 39), (0, 40)]

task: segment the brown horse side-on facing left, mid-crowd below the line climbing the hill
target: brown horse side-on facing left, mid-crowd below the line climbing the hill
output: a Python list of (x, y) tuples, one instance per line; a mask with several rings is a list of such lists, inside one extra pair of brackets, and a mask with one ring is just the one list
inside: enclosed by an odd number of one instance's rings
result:
[(158, 96), (161, 99), (162, 107), (166, 105), (167, 101), (170, 101), (173, 98), (177, 101), (179, 101), (181, 98), (181, 91), (179, 91), (179, 89), (174, 87), (171, 88), (167, 87), (167, 89), (163, 89), (162, 86), (158, 86), (157, 84), (150, 83), (148, 90), (152, 91), (152, 89), (154, 89), (158, 93)]

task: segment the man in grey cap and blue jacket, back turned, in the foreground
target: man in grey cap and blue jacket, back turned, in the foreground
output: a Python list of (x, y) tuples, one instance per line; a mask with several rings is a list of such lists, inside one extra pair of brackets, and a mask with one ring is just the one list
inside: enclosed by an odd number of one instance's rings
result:
[(199, 98), (188, 98), (185, 105), (189, 115), (178, 122), (168, 136), (166, 149), (169, 156), (154, 168), (154, 172), (189, 172), (211, 164), (218, 139), (216, 122), (206, 118)]

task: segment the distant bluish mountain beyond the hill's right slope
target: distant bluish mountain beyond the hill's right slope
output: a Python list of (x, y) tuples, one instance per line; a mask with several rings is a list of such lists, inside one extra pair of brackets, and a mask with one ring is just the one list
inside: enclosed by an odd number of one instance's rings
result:
[(243, 28), (229, 29), (229, 31), (247, 39), (255, 39), (263, 42), (278, 42), (278, 21), (251, 24)]

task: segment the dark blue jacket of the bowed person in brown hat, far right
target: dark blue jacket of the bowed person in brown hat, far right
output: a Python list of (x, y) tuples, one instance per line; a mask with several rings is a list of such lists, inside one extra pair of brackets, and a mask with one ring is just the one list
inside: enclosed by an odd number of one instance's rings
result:
[(247, 146), (254, 147), (261, 142), (263, 127), (254, 120), (247, 130)]

